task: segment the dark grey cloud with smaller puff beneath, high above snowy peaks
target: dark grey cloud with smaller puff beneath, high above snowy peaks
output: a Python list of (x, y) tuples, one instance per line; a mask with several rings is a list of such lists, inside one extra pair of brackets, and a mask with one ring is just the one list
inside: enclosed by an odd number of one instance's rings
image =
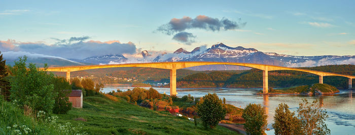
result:
[[(212, 18), (205, 15), (199, 15), (194, 19), (188, 16), (183, 18), (172, 18), (167, 24), (163, 24), (157, 28), (157, 31), (165, 33), (166, 35), (174, 35), (173, 40), (184, 44), (193, 43), (193, 38), (196, 36), (192, 33), (185, 32), (188, 29), (204, 29), (208, 31), (220, 30), (235, 30), (244, 27), (246, 22), (241, 22), (241, 19), (236, 21), (227, 18)], [(189, 41), (190, 40), (190, 41)], [(191, 42), (192, 41), (192, 42)]]

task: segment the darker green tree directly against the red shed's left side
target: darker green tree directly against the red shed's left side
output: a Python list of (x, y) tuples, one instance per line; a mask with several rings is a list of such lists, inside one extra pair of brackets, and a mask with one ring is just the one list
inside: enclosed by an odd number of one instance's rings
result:
[(69, 102), (68, 97), (72, 92), (72, 87), (63, 77), (53, 77), (52, 83), (54, 85), (54, 92), (57, 93), (57, 96), (54, 97), (53, 113), (66, 114), (66, 112), (72, 109), (72, 103)]

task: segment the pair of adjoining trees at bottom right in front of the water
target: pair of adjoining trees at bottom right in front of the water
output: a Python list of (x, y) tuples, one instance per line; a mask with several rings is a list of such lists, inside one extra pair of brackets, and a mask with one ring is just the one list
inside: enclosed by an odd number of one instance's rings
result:
[(309, 103), (307, 99), (302, 99), (295, 112), (290, 112), (286, 104), (279, 104), (275, 110), (272, 127), (275, 134), (330, 134), (325, 123), (328, 118), (327, 112), (323, 110), (317, 100)]

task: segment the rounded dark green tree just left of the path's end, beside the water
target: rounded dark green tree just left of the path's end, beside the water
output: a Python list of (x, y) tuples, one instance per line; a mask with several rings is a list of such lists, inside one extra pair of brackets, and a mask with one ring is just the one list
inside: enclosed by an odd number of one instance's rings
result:
[(197, 104), (197, 113), (205, 128), (215, 128), (226, 116), (226, 109), (216, 93), (208, 93), (203, 96), (203, 100), (200, 100)]

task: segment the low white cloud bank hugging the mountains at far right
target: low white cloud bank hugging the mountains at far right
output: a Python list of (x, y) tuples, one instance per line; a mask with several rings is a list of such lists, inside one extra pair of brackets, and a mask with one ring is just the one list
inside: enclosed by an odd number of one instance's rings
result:
[(355, 58), (349, 58), (342, 61), (333, 61), (331, 59), (323, 58), (318, 61), (307, 60), (300, 63), (292, 63), (289, 67), (312, 67), (321, 65), (334, 65), (334, 64), (355, 64)]

